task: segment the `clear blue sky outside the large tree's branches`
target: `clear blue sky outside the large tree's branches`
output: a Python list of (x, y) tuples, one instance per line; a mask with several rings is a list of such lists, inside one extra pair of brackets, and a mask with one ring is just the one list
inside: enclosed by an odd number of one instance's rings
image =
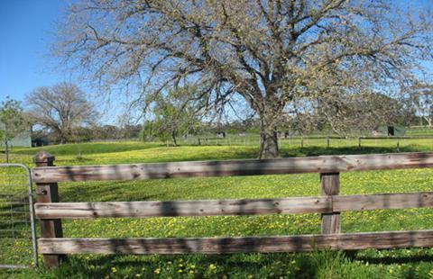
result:
[[(23, 101), (35, 87), (74, 81), (47, 57), (54, 25), (69, 1), (0, 0), (0, 102), (7, 95)], [(433, 0), (401, 3), (433, 9)], [(429, 68), (433, 73), (431, 63)]]

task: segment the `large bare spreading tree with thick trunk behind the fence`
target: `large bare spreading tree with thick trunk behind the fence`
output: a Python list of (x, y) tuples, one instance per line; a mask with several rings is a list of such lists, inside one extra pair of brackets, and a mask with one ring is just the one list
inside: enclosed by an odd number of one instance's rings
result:
[(99, 85), (136, 87), (138, 101), (182, 81), (209, 105), (239, 94), (260, 117), (260, 157), (278, 157), (293, 102), (409, 82), (431, 58), (431, 18), (391, 0), (81, 0), (53, 50)]

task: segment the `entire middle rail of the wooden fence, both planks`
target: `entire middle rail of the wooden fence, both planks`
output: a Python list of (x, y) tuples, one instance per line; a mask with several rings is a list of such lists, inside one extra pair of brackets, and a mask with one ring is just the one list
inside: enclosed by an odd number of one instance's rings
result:
[(256, 200), (36, 203), (39, 219), (332, 213), (433, 207), (433, 192), (379, 193)]

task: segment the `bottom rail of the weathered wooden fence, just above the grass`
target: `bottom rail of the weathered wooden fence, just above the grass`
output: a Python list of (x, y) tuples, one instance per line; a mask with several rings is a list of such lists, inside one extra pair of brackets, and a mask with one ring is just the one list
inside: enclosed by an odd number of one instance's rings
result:
[(433, 230), (256, 238), (40, 238), (41, 254), (226, 254), (433, 247)]

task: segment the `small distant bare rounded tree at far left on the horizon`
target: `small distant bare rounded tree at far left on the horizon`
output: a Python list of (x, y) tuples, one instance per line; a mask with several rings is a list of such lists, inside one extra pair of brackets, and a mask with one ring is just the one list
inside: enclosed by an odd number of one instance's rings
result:
[(39, 87), (26, 96), (32, 121), (58, 135), (60, 143), (74, 139), (74, 131), (96, 120), (97, 113), (77, 85)]

